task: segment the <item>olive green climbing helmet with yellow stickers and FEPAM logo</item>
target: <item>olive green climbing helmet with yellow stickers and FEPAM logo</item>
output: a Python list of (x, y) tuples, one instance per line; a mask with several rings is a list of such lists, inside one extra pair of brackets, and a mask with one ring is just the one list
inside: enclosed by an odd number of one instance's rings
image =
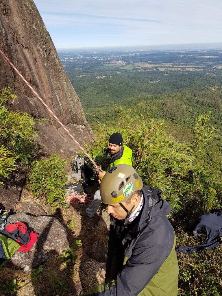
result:
[(99, 191), (102, 202), (112, 205), (126, 202), (130, 195), (143, 188), (143, 182), (138, 173), (130, 165), (115, 165), (102, 178)]

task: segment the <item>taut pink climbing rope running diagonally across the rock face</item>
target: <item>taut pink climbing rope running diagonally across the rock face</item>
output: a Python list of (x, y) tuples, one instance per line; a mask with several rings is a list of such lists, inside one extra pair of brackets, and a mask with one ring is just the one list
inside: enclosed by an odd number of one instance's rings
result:
[(58, 121), (58, 123), (65, 129), (65, 131), (69, 134), (69, 136), (75, 141), (75, 143), (78, 145), (78, 147), (87, 155), (89, 160), (95, 165), (97, 173), (102, 173), (102, 169), (99, 165), (96, 165), (94, 160), (89, 156), (89, 154), (86, 152), (85, 149), (81, 147), (81, 145), (76, 141), (76, 139), (72, 136), (72, 134), (67, 130), (67, 128), (61, 123), (61, 121), (57, 118), (57, 116), (52, 112), (52, 110), (46, 105), (46, 103), (40, 98), (40, 96), (37, 94), (37, 92), (30, 86), (27, 80), (22, 76), (22, 74), (17, 70), (17, 68), (12, 64), (12, 62), (9, 61), (9, 59), (6, 57), (6, 55), (2, 52), (0, 49), (1, 54), (3, 57), (9, 62), (9, 64), (15, 69), (15, 71), (18, 73), (18, 75), (22, 78), (22, 80), (25, 81), (25, 83), (28, 85), (28, 87), (33, 91), (33, 93), (37, 96), (37, 98), (44, 104), (44, 106), (48, 109), (48, 111), (52, 114), (52, 116)]

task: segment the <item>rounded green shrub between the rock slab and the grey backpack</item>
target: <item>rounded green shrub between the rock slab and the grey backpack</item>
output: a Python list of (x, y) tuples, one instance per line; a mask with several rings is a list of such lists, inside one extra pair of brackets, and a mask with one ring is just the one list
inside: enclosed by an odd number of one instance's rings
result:
[(66, 177), (64, 167), (66, 160), (59, 155), (51, 155), (49, 159), (36, 160), (31, 163), (28, 175), (29, 188), (35, 198), (41, 198), (45, 203), (59, 206), (64, 202)]

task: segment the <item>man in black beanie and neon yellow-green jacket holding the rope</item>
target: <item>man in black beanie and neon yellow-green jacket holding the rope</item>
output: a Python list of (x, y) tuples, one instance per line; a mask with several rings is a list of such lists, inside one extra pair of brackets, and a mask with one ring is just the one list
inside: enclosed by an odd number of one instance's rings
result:
[[(111, 167), (115, 165), (125, 164), (125, 165), (132, 165), (131, 158), (133, 156), (132, 150), (123, 145), (123, 137), (121, 133), (113, 133), (110, 136), (109, 139), (109, 150), (110, 150), (110, 165), (107, 168), (109, 170)], [(105, 171), (102, 173), (99, 173), (99, 184), (100, 180), (105, 175)], [(94, 194), (94, 199), (92, 200), (89, 207), (86, 209), (86, 211), (77, 211), (77, 214), (83, 218), (92, 220), (94, 214), (98, 210), (99, 206), (101, 205), (102, 200), (100, 196), (99, 190), (96, 191)]]

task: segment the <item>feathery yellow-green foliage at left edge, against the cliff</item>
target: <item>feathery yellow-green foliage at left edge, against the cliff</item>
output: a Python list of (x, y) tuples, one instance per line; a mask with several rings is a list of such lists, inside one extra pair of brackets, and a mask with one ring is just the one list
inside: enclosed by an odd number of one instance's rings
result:
[(41, 149), (33, 141), (38, 131), (36, 122), (28, 113), (10, 112), (6, 105), (9, 99), (17, 99), (11, 85), (0, 90), (0, 176), (4, 178), (17, 168), (18, 161), (28, 165), (33, 153)]

